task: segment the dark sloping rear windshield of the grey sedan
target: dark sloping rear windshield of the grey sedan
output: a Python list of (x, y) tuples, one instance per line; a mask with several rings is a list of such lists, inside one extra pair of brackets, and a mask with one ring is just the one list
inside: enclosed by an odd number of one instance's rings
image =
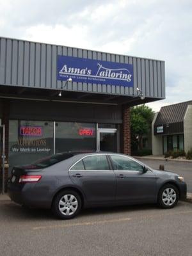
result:
[(63, 160), (66, 160), (66, 159), (68, 159), (72, 156), (74, 156), (74, 154), (58, 153), (58, 154), (55, 154), (53, 156), (49, 156), (49, 157), (46, 157), (46, 158), (43, 158), (43, 159), (40, 159), (40, 160), (36, 161), (35, 163), (33, 163), (33, 166), (38, 167), (38, 168), (46, 168), (46, 167), (49, 167), (53, 164), (59, 163)]

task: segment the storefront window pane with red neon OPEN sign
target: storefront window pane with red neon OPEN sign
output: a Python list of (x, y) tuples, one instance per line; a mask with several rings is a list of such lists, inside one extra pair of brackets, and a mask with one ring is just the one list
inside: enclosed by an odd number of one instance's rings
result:
[(96, 125), (56, 122), (56, 153), (90, 151), (96, 148)]

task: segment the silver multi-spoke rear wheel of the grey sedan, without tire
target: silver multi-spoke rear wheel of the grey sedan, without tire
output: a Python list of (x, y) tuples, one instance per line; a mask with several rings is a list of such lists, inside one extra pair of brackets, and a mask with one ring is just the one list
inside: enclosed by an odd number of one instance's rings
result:
[(59, 202), (59, 209), (61, 214), (70, 216), (77, 211), (78, 201), (76, 196), (67, 194), (62, 196)]

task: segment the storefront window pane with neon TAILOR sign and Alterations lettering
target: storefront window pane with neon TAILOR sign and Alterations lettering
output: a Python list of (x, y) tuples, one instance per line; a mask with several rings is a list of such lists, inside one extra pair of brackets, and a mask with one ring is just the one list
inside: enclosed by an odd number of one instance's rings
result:
[(9, 130), (11, 168), (53, 154), (53, 122), (10, 120)]

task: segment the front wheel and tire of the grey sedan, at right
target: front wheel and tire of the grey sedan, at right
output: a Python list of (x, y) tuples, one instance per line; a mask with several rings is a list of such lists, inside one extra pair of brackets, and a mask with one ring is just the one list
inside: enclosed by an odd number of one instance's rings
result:
[(158, 195), (158, 204), (161, 208), (173, 208), (179, 200), (179, 191), (173, 184), (165, 184)]

